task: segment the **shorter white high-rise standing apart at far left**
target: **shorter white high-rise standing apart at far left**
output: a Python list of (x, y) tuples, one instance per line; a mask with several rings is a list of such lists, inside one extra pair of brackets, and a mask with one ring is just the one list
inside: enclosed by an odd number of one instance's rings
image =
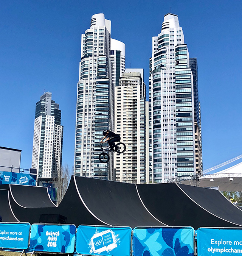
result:
[[(32, 168), (42, 178), (57, 178), (62, 162), (63, 126), (61, 110), (46, 92), (36, 103)], [(43, 179), (42, 179), (43, 180)]]

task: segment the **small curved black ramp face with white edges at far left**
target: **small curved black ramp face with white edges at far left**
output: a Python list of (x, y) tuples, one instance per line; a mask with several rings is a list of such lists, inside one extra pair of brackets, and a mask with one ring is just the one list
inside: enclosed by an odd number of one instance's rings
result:
[(47, 187), (10, 184), (10, 192), (16, 203), (25, 208), (56, 207)]

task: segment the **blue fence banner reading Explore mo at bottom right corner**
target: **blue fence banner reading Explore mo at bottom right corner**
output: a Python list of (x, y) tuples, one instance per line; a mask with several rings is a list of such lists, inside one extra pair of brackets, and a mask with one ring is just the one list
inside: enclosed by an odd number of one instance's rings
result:
[(199, 228), (197, 255), (237, 255), (242, 253), (242, 229)]

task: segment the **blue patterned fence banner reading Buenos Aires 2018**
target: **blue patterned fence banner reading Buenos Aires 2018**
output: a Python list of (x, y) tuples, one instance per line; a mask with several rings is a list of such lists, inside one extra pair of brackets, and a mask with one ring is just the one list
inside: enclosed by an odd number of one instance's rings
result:
[(29, 251), (73, 253), (75, 225), (31, 225)]

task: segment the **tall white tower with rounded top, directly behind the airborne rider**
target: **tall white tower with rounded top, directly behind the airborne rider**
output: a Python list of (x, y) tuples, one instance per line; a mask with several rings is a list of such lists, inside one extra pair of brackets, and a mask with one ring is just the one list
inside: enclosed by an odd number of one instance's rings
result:
[[(113, 157), (107, 164), (101, 163), (98, 155), (103, 130), (114, 130), (115, 83), (118, 71), (121, 72), (121, 58), (125, 46), (119, 42), (117, 49), (112, 48), (111, 61), (111, 21), (104, 14), (92, 16), (90, 28), (82, 34), (81, 61), (77, 89), (76, 139), (74, 174), (102, 179), (115, 180)], [(119, 51), (119, 55), (116, 54)], [(119, 58), (116, 58), (119, 56)], [(116, 65), (115, 59), (119, 59)], [(115, 70), (113, 70), (115, 67)], [(113, 76), (115, 72), (115, 76)], [(111, 152), (112, 156), (113, 153)]]

